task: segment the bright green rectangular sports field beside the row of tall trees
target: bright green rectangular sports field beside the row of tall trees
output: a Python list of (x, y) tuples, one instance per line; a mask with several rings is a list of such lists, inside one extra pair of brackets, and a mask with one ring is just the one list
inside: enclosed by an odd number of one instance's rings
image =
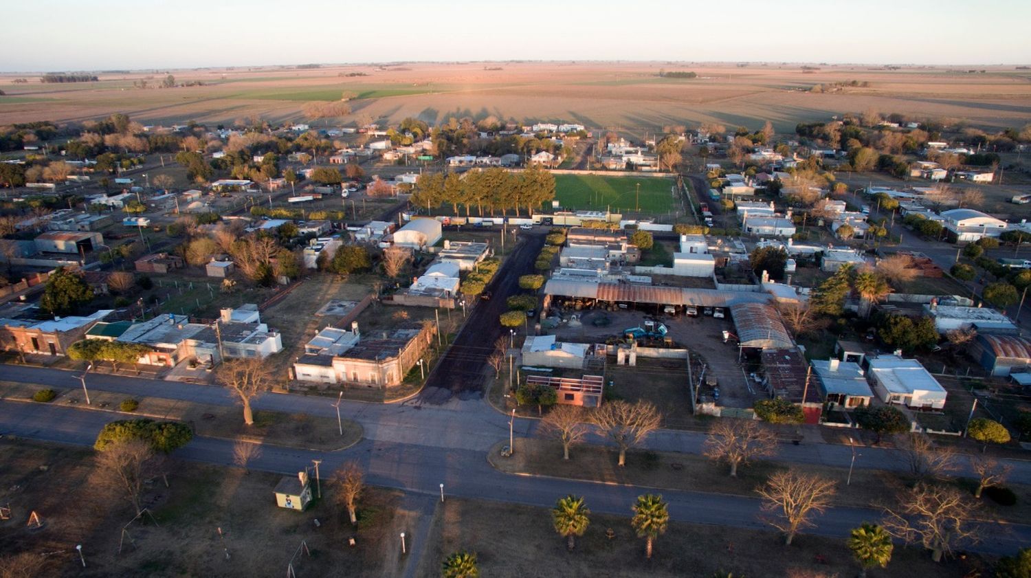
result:
[(663, 177), (555, 175), (555, 197), (570, 210), (636, 212), (640, 183), (640, 212), (664, 213), (673, 205), (673, 181)]

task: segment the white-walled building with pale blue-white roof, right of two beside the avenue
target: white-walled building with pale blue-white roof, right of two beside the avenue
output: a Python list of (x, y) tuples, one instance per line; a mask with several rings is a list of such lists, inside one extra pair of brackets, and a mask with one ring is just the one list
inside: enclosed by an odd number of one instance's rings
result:
[(880, 401), (913, 409), (945, 407), (945, 388), (917, 360), (880, 355), (867, 358), (866, 363)]

